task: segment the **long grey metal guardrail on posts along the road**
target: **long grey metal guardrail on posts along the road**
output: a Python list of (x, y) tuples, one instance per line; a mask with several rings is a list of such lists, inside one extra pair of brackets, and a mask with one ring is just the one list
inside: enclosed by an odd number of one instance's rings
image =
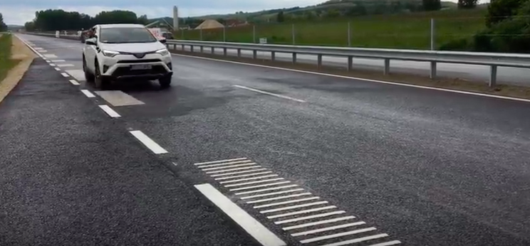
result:
[[(29, 33), (42, 36), (55, 36), (48, 33)], [(79, 39), (78, 36), (61, 36), (61, 38)], [(276, 53), (291, 53), (292, 62), (296, 63), (297, 54), (317, 56), (318, 68), (322, 66), (323, 56), (340, 56), (348, 58), (347, 69), (352, 70), (353, 58), (378, 58), (384, 60), (383, 73), (390, 73), (390, 60), (412, 60), (430, 63), (430, 78), (436, 77), (437, 63), (457, 63), (471, 65), (487, 65), (489, 70), (489, 86), (494, 87), (497, 83), (497, 67), (530, 68), (530, 54), (519, 53), (482, 53), (482, 52), (458, 52), (458, 51), (436, 51), (436, 50), (398, 50), (385, 48), (348, 48), (348, 47), (326, 47), (326, 46), (287, 46), (261, 43), (229, 43), (212, 41), (184, 41), (167, 40), (166, 46), (176, 49), (182, 46), (182, 50), (189, 46), (194, 52), (199, 47), (201, 53), (204, 47), (222, 48), (224, 55), (227, 49), (237, 50), (237, 56), (241, 57), (241, 50), (252, 50), (253, 58), (257, 58), (258, 51), (271, 53), (271, 60), (275, 60)]]

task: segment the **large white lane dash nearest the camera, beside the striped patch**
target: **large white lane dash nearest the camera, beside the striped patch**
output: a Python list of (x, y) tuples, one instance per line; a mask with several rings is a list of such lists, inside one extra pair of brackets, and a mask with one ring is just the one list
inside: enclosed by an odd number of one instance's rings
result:
[(256, 239), (261, 245), (264, 246), (284, 246), (286, 243), (282, 241), (273, 232), (267, 229), (264, 225), (259, 223), (256, 219), (252, 218), (251, 215), (245, 212), (245, 210), (239, 208), (238, 205), (233, 203), (229, 198), (224, 196), (221, 192), (217, 191), (209, 183), (203, 183), (195, 185), (195, 188), (199, 190), (208, 200), (212, 201), (217, 207), (219, 207), (224, 213), (226, 213), (232, 220), (234, 220), (241, 228), (248, 232), (254, 239)]

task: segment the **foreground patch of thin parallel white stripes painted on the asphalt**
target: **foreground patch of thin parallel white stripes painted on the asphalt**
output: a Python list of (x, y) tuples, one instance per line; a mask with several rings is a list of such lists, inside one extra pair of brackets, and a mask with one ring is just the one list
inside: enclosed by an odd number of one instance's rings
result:
[(401, 243), (385, 240), (388, 234), (365, 226), (364, 221), (347, 215), (345, 210), (339, 210), (336, 205), (313, 196), (250, 159), (207, 161), (194, 166), (303, 245), (340, 246), (365, 241), (372, 246)]

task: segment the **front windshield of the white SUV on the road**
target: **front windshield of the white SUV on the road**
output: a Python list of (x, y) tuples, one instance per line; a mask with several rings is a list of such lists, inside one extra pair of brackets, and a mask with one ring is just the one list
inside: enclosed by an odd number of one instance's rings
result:
[(153, 43), (157, 38), (147, 28), (101, 28), (101, 43)]

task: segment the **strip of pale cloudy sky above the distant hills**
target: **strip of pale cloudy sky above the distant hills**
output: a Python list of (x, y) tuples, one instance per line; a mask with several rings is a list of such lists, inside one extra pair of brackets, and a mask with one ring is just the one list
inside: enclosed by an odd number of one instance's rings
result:
[(8, 25), (24, 25), (35, 18), (35, 11), (63, 9), (95, 16), (100, 11), (130, 10), (147, 18), (172, 16), (173, 6), (179, 16), (233, 14), (236, 11), (290, 8), (320, 4), (326, 0), (0, 0), (0, 13)]

